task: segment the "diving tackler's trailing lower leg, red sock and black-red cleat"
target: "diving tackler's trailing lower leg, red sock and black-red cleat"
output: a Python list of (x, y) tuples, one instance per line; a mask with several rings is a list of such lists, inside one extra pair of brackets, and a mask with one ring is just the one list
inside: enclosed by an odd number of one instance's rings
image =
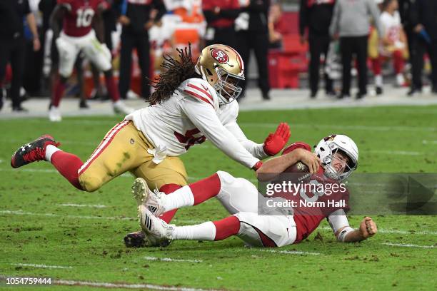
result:
[(11, 158), (12, 168), (20, 168), (28, 163), (46, 160), (50, 162), (56, 170), (64, 176), (71, 185), (83, 190), (79, 183), (79, 168), (84, 164), (81, 159), (74, 154), (66, 153), (58, 148), (60, 143), (56, 143), (49, 135), (36, 138), (35, 141), (21, 146)]

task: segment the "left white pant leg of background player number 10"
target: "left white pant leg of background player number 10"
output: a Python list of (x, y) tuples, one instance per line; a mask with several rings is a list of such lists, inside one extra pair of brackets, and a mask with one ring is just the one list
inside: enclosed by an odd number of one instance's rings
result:
[(63, 33), (56, 39), (56, 47), (59, 52), (59, 75), (68, 78), (73, 72), (74, 63), (80, 48)]

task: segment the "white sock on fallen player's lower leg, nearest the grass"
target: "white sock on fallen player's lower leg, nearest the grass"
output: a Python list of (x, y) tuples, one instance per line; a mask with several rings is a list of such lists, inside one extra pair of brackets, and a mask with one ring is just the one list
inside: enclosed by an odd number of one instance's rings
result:
[(208, 221), (199, 225), (175, 226), (173, 240), (214, 240), (216, 225)]

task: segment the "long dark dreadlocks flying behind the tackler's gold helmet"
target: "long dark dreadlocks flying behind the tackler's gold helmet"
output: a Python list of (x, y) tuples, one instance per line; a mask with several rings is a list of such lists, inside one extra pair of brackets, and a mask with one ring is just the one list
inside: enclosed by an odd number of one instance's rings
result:
[(179, 53), (179, 59), (172, 56), (164, 56), (164, 63), (161, 67), (167, 71), (161, 73), (154, 81), (148, 78), (151, 86), (156, 90), (151, 94), (150, 105), (159, 104), (162, 101), (170, 98), (176, 88), (188, 78), (199, 78), (199, 73), (196, 73), (194, 66), (196, 62), (191, 58), (191, 44), (184, 49), (176, 48)]

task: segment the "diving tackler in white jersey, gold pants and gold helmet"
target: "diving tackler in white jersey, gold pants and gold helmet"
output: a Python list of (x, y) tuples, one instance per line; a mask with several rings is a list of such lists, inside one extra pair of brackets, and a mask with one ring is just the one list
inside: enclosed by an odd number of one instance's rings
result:
[[(113, 178), (130, 171), (146, 180), (150, 188), (171, 193), (187, 183), (179, 159), (191, 146), (208, 138), (230, 158), (253, 170), (261, 159), (279, 153), (290, 137), (290, 128), (280, 123), (263, 143), (248, 140), (236, 123), (244, 79), (240, 55), (231, 47), (212, 45), (197, 61), (191, 50), (179, 50), (179, 58), (166, 58), (160, 79), (154, 84), (151, 106), (126, 116), (116, 124), (83, 163), (74, 154), (58, 148), (51, 136), (21, 146), (12, 155), (11, 166), (46, 160), (79, 190), (93, 192)], [(169, 222), (175, 211), (161, 218)]]

